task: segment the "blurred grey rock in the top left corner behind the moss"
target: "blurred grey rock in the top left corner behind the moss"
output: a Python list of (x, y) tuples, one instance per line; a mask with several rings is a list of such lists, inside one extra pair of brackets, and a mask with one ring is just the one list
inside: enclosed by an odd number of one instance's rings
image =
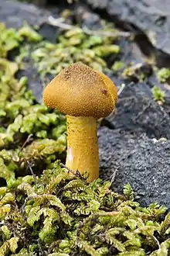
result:
[[(29, 25), (39, 27), (39, 33), (45, 40), (55, 43), (59, 29), (49, 25), (48, 17), (51, 14), (52, 12), (39, 9), (36, 5), (0, 0), (0, 21), (5, 22), (5, 26), (19, 28), (23, 22), (28, 22)], [(54, 9), (53, 16), (59, 16), (58, 9)]]

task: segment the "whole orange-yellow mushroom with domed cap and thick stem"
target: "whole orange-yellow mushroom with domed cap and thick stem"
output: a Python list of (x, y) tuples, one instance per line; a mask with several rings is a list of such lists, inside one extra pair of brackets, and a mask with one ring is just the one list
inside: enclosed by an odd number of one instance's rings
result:
[(87, 182), (99, 177), (97, 119), (114, 110), (117, 88), (105, 74), (77, 62), (49, 82), (43, 102), (66, 114), (66, 167), (88, 173)]

